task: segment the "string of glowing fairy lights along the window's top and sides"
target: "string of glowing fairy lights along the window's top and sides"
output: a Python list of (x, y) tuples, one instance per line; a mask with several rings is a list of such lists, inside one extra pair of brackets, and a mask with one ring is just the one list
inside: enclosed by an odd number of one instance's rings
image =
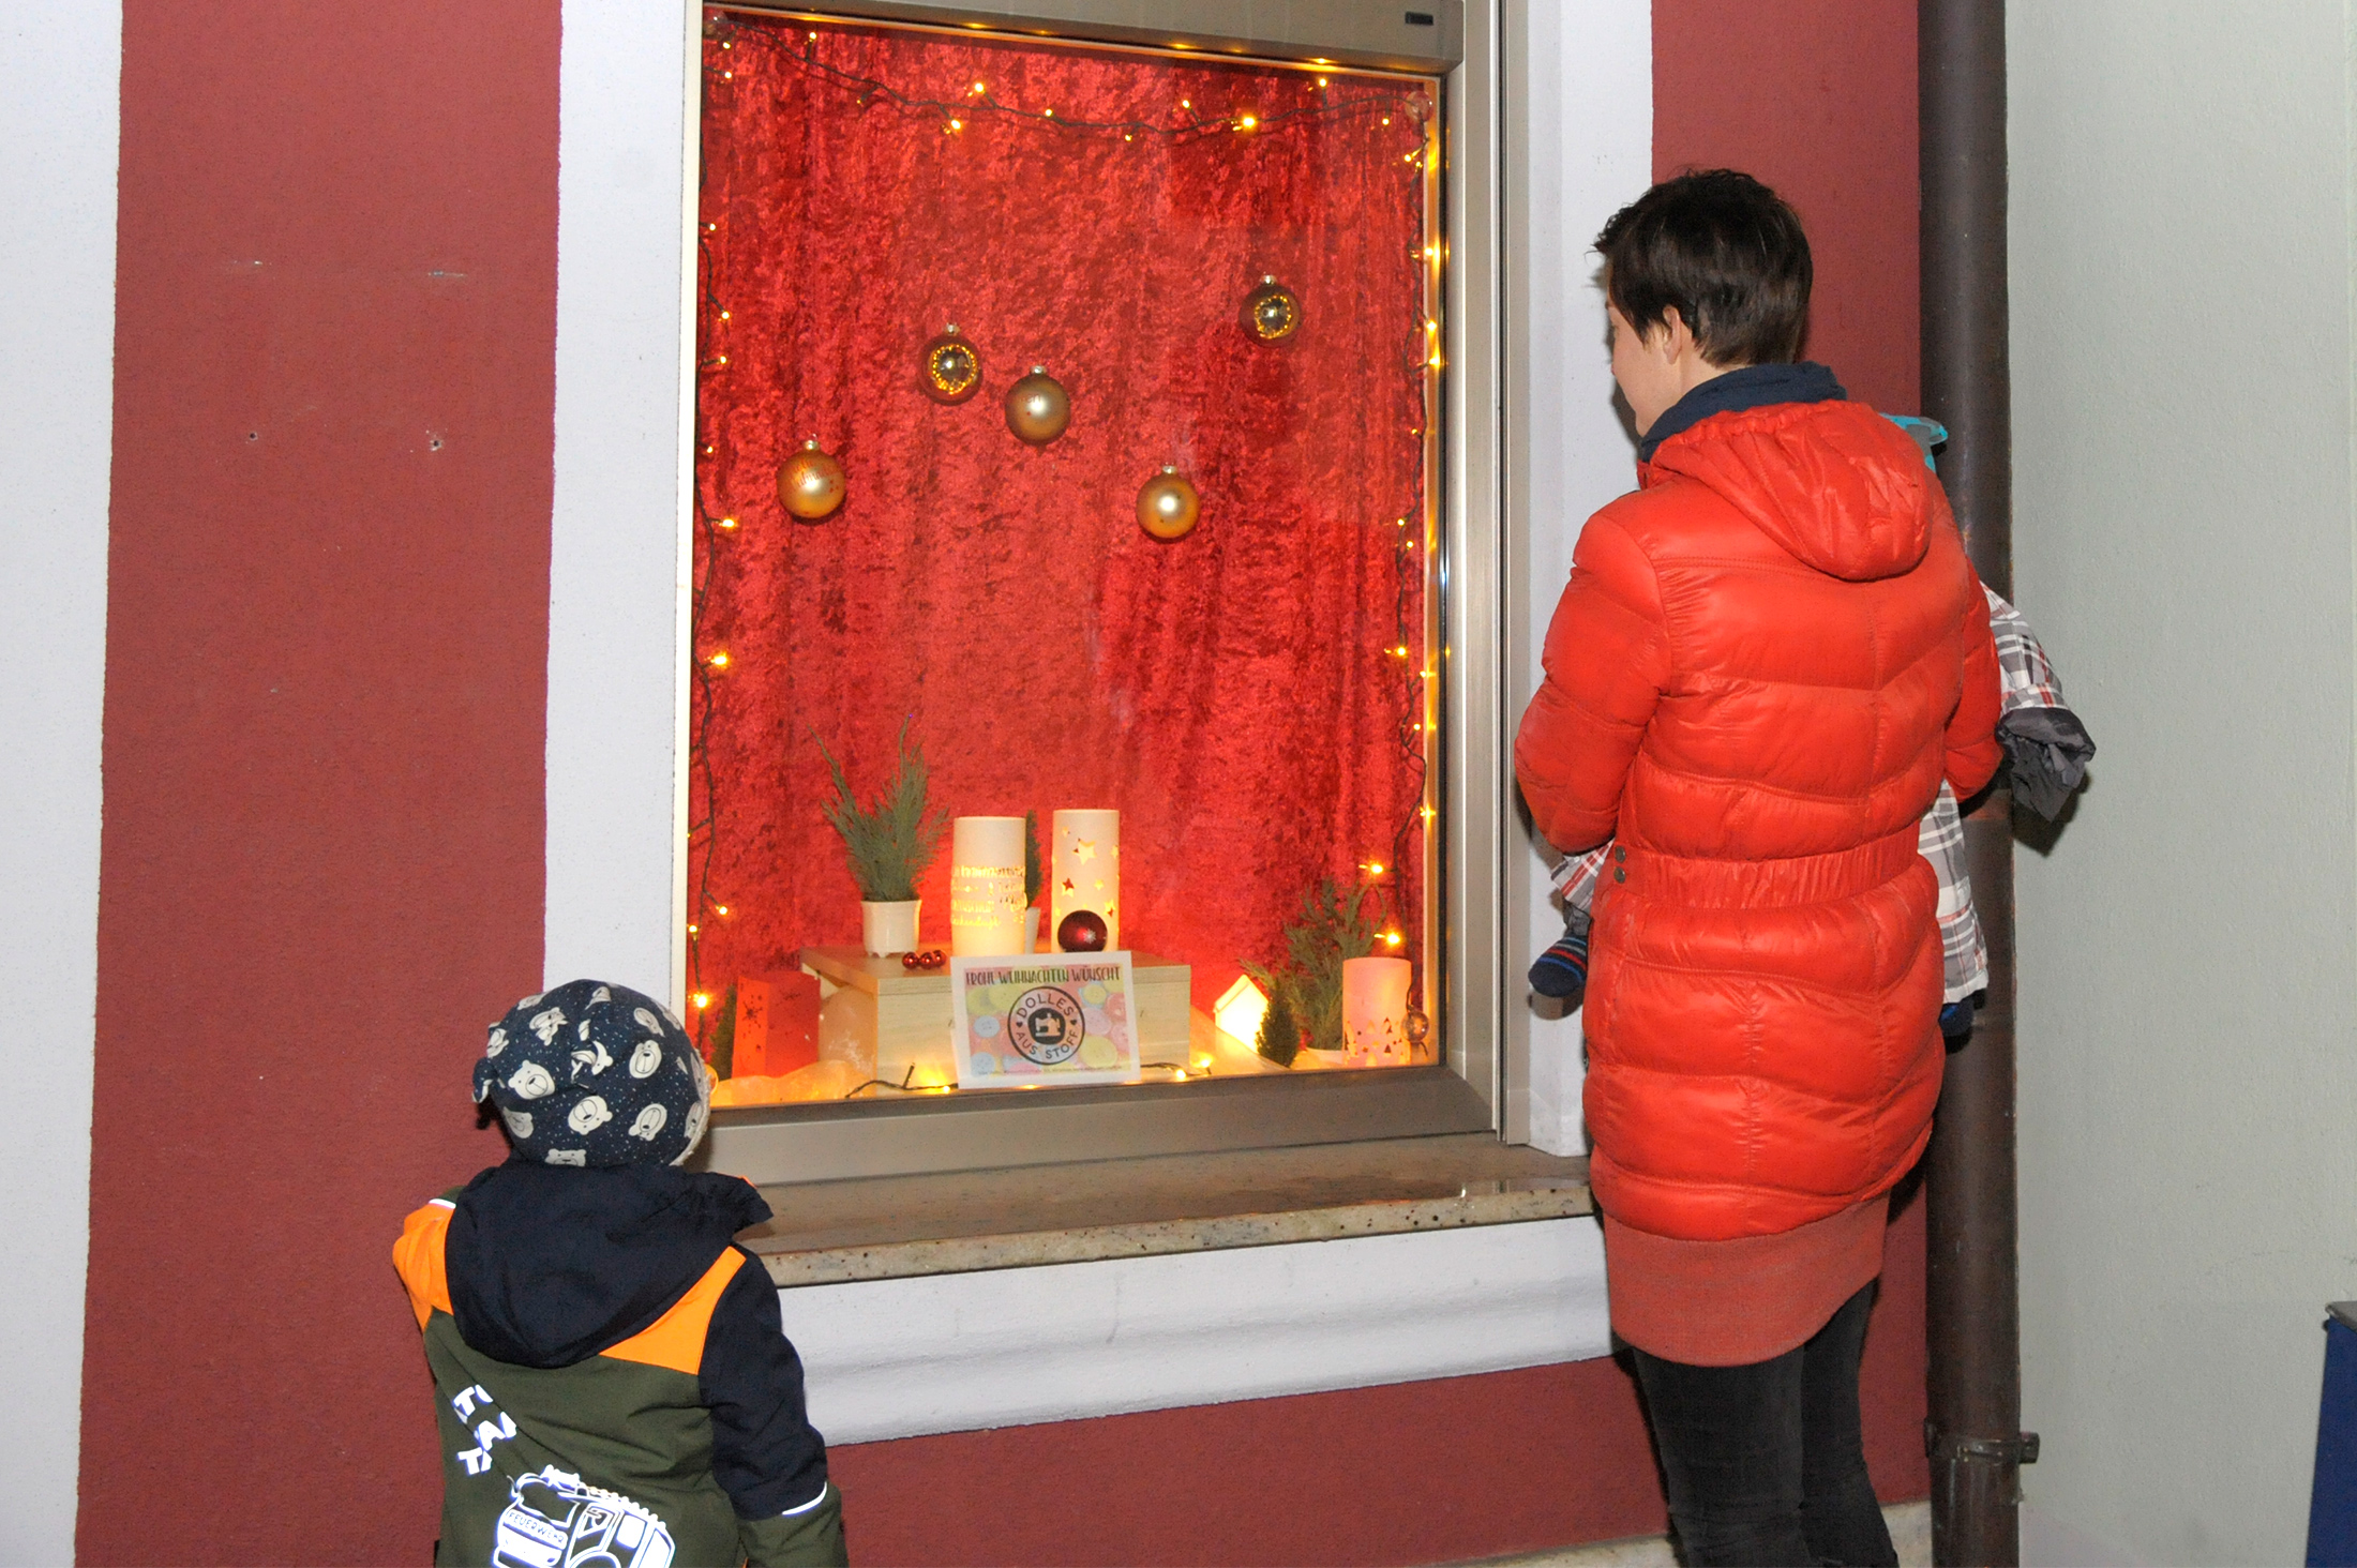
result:
[[(801, 33), (792, 40), (792, 33)], [(896, 85), (860, 75), (825, 59), (820, 42), (825, 33), (820, 28), (806, 26), (801, 21), (778, 21), (778, 19), (738, 19), (726, 12), (705, 14), (705, 87), (709, 92), (724, 92), (733, 85), (740, 71), (754, 68), (752, 50), (738, 54), (738, 42), (747, 35), (759, 35), (761, 40), (778, 40), (785, 45), (799, 42), (799, 47), (783, 47), (775, 52), (759, 52), (768, 59), (778, 59), (790, 68), (804, 73), (823, 87), (837, 90), (856, 108), (867, 111), (884, 106), (903, 118), (931, 118), (940, 125), (940, 134), (962, 137), (985, 123), (1004, 123), (1009, 127), (1023, 127), (1037, 134), (1075, 137), (1075, 139), (1098, 139), (1098, 141), (1138, 141), (1146, 139), (1160, 146), (1188, 146), (1211, 139), (1233, 137), (1263, 137), (1289, 130), (1303, 130), (1308, 125), (1327, 125), (1341, 120), (1376, 120), (1379, 125), (1391, 125), (1395, 118), (1419, 130), (1419, 144), (1402, 153), (1405, 172), (1414, 179), (1426, 177), (1433, 149), (1426, 137), (1426, 120), (1431, 113), (1431, 101), (1421, 90), (1372, 85), (1374, 78), (1346, 78), (1346, 87), (1336, 90), (1332, 75), (1318, 75), (1315, 90), (1318, 101), (1294, 106), (1294, 108), (1228, 108), (1211, 111), (1197, 108), (1190, 97), (1181, 97), (1169, 120), (1148, 118), (1120, 118), (1120, 120), (1087, 120), (1070, 113), (1058, 113), (1056, 106), (1025, 108), (1002, 99), (988, 80), (973, 80), (964, 94), (955, 99), (924, 97), (903, 92)], [(705, 217), (698, 224), (698, 297), (700, 297), (700, 342), (698, 375), (709, 377), (728, 368), (731, 358), (726, 351), (726, 330), (733, 321), (728, 302), (717, 292), (719, 264), (712, 252), (712, 241), (719, 236), (721, 224), (714, 217)], [(1426, 241), (1417, 250), (1407, 252), (1405, 264), (1417, 269), (1419, 290), (1431, 290), (1440, 276), (1440, 245), (1438, 241)], [(1440, 358), (1440, 323), (1433, 321), (1428, 311), (1419, 311), (1419, 321), (1409, 328), (1402, 368), (1412, 380), (1417, 424), (1409, 429), (1419, 441), (1426, 439), (1426, 429), (1433, 420), (1433, 373), (1442, 368)], [(721, 434), (707, 401), (698, 398), (698, 469), (705, 469), (709, 460), (719, 457)], [(1426, 516), (1426, 462), (1414, 465), (1414, 488), (1409, 495), (1409, 507), (1400, 514), (1395, 523), (1395, 545), (1391, 552), (1393, 566), (1393, 627), (1391, 641), (1384, 653), (1407, 667), (1398, 677), (1398, 691), (1402, 700), (1402, 717), (1395, 729), (1395, 745), (1400, 759), (1414, 780), (1414, 806), (1400, 818), (1398, 830), (1391, 837), (1391, 858), (1386, 861), (1362, 861), (1360, 872), (1365, 875), (1365, 887), (1376, 894), (1381, 931), (1379, 941), (1388, 948), (1400, 948), (1405, 943), (1405, 910), (1400, 908), (1402, 877), (1400, 868), (1409, 863), (1409, 839), (1419, 828), (1431, 823), (1433, 806), (1426, 799), (1428, 783), (1428, 747), (1431, 738), (1431, 681), (1435, 670), (1431, 670), (1417, 648), (1424, 646), (1424, 625), (1417, 613), (1421, 604), (1417, 587), (1424, 585), (1424, 571), (1417, 561), (1417, 552), (1428, 545), (1419, 521)], [(731, 905), (714, 894), (712, 868), (719, 858), (721, 839), (721, 790), (714, 776), (712, 747), (709, 747), (709, 724), (714, 703), (719, 696), (717, 681), (724, 679), (735, 667), (735, 655), (726, 648), (707, 644), (705, 615), (709, 594), (714, 587), (714, 571), (721, 566), (726, 547), (740, 538), (742, 519), (728, 509), (717, 509), (709, 505), (705, 483), (695, 486), (695, 531), (698, 545), (693, 580), (691, 580), (691, 611), (688, 611), (688, 637), (691, 637), (691, 679), (693, 679), (693, 722), (688, 736), (688, 854), (695, 863), (695, 882), (691, 889), (691, 915), (686, 927), (688, 948), (688, 993), (695, 1007), (695, 1033), (698, 1045), (705, 1045), (705, 1028), (709, 1021), (709, 1009), (714, 1002), (714, 988), (705, 983), (702, 974), (702, 927), (707, 920), (728, 920), (733, 915)], [(1164, 1066), (1164, 1063), (1153, 1063)], [(1178, 1063), (1169, 1063), (1178, 1066)], [(863, 1085), (867, 1087), (867, 1085)]]

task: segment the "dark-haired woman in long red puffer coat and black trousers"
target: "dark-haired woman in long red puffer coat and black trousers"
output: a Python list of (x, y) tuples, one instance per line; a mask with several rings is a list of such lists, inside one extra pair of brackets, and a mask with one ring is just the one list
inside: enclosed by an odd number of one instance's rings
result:
[(1940, 1096), (1916, 823), (2001, 755), (1987, 599), (1916, 446), (1791, 363), (1791, 207), (1688, 174), (1598, 250), (1640, 488), (1579, 535), (1516, 776), (1558, 849), (1617, 837), (1584, 1012), (1612, 1327), (1690, 1563), (1895, 1563), (1857, 1361)]

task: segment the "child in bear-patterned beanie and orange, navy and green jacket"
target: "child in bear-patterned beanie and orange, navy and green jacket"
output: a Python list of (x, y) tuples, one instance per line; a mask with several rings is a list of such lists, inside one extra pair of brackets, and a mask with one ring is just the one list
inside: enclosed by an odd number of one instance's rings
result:
[(738, 1177), (684, 1172), (712, 1080), (625, 986), (516, 1002), (474, 1063), (509, 1158), (408, 1217), (394, 1266), (443, 1443), (438, 1563), (841, 1563)]

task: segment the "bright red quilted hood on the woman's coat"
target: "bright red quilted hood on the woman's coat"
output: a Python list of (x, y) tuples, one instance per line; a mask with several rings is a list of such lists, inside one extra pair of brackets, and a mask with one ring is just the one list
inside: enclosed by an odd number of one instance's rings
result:
[(1864, 403), (1711, 415), (1662, 441), (1643, 479), (1662, 474), (1709, 486), (1770, 540), (1846, 582), (1914, 571), (1930, 549), (1923, 453)]

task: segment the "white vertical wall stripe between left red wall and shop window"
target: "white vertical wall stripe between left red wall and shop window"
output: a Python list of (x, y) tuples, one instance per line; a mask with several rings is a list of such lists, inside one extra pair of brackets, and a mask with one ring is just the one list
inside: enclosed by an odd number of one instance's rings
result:
[(544, 974), (679, 1004), (681, 233), (698, 7), (566, 0)]

